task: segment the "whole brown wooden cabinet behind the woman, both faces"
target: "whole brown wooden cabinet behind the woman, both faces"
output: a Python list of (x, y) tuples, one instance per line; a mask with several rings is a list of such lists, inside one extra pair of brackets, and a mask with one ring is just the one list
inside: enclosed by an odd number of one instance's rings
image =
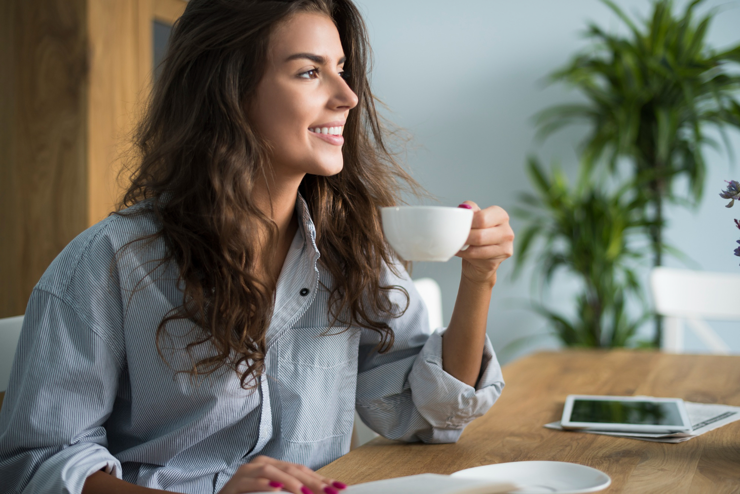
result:
[(108, 215), (152, 77), (152, 21), (184, 0), (0, 1), (0, 317)]

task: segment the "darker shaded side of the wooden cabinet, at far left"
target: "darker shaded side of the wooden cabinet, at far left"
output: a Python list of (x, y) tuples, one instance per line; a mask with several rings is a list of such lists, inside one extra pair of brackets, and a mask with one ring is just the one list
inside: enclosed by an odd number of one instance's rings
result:
[(0, 316), (24, 313), (38, 278), (87, 225), (85, 3), (3, 2), (13, 10), (3, 25), (12, 39), (3, 79), (13, 87), (1, 96), (10, 146), (0, 163)]

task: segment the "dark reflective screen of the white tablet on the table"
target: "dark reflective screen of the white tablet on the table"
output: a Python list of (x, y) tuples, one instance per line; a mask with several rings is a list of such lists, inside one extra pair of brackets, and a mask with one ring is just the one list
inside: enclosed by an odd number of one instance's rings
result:
[(573, 400), (572, 422), (682, 426), (674, 402)]

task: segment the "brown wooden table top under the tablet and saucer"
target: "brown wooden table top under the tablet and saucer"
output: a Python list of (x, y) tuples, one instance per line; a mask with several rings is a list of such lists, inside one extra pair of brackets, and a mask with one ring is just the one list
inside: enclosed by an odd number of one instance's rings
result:
[(679, 444), (542, 427), (568, 394), (653, 395), (740, 406), (740, 356), (643, 351), (537, 353), (504, 367), (506, 387), (456, 444), (376, 438), (320, 471), (348, 484), (453, 473), (505, 461), (573, 461), (608, 473), (604, 493), (740, 493), (740, 421)]

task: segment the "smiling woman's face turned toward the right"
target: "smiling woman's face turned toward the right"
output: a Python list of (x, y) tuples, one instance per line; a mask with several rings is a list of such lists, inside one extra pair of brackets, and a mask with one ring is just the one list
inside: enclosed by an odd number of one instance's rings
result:
[(326, 16), (299, 13), (273, 33), (249, 118), (271, 146), (277, 176), (342, 170), (342, 131), (357, 105), (343, 66), (339, 33)]

